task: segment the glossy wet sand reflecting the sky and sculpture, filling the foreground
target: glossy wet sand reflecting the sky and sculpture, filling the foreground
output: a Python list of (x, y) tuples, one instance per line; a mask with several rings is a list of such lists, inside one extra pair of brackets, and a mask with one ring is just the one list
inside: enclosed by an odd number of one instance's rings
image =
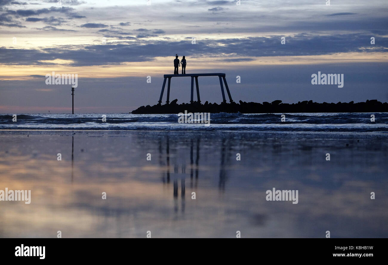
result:
[[(388, 236), (381, 134), (24, 133), (0, 131), (0, 189), (31, 189), (0, 201), (1, 237)], [(266, 201), (273, 187), (299, 203)]]

